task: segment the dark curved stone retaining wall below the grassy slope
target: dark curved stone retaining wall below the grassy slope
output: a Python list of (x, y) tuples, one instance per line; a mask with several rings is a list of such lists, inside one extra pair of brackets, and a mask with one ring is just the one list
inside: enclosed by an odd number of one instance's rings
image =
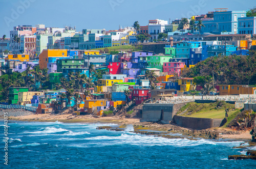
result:
[(222, 120), (223, 119), (191, 118), (176, 115), (174, 116), (174, 121), (178, 126), (191, 128), (194, 130), (220, 127)]

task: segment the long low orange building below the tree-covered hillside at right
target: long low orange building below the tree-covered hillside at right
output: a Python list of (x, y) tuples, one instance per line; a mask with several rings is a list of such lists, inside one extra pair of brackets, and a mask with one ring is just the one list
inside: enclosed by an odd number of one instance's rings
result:
[(220, 85), (220, 95), (256, 94), (256, 87), (243, 85)]

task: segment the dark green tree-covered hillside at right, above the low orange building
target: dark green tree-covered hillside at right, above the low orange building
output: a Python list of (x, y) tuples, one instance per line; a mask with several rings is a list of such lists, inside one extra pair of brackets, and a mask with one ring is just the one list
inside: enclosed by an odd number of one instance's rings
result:
[(219, 55), (187, 69), (183, 77), (212, 76), (216, 85), (256, 85), (256, 52), (249, 55)]

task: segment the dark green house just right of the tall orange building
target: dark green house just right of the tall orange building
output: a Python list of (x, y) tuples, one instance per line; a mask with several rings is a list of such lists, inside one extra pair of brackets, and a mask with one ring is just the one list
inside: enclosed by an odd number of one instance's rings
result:
[(57, 72), (62, 72), (62, 69), (79, 69), (84, 67), (83, 59), (59, 59), (56, 60)]

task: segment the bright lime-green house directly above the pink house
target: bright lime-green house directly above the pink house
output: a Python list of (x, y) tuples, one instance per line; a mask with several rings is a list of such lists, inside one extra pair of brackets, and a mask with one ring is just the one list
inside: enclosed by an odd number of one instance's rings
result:
[(153, 55), (147, 57), (147, 68), (157, 68), (160, 69), (160, 72), (163, 72), (163, 63), (169, 62), (173, 58), (172, 55)]

